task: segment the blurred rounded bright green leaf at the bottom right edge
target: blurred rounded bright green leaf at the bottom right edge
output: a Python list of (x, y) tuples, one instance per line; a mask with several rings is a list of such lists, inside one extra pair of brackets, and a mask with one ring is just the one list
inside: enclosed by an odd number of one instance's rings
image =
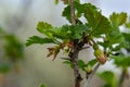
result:
[(106, 82), (106, 84), (103, 87), (117, 87), (117, 78), (113, 72), (105, 71), (98, 75)]

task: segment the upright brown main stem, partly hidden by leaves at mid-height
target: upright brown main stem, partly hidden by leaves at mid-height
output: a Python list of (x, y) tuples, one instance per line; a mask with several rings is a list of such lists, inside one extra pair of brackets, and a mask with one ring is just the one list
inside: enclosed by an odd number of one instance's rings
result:
[[(76, 18), (75, 18), (75, 0), (70, 0), (70, 18), (72, 18), (72, 25), (76, 25)], [(70, 55), (70, 60), (74, 63), (74, 75), (75, 75), (75, 87), (80, 87), (80, 80), (82, 79), (79, 73), (78, 67), (78, 55), (79, 55), (79, 46), (78, 42), (74, 45), (73, 55)]]

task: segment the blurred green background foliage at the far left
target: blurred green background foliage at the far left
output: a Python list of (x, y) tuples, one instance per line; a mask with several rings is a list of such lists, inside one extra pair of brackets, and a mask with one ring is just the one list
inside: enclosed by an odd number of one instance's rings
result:
[(20, 62), (24, 60), (24, 45), (11, 33), (0, 27), (0, 74), (6, 75), (12, 70), (20, 73)]

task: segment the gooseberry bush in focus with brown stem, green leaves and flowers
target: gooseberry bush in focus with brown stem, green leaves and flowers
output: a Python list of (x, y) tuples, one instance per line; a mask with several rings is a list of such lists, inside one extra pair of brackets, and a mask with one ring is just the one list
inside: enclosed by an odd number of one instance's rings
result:
[[(66, 17), (69, 24), (55, 27), (47, 22), (39, 22), (37, 30), (46, 37), (29, 37), (26, 46), (53, 44), (53, 47), (47, 48), (49, 50), (47, 57), (53, 55), (53, 61), (61, 51), (65, 51), (67, 58), (63, 58), (64, 63), (74, 70), (75, 87), (80, 87), (80, 82), (83, 78), (90, 80), (100, 65), (114, 61), (114, 64), (122, 70), (120, 80), (115, 80), (115, 75), (110, 71), (99, 75), (106, 82), (103, 87), (121, 87), (130, 66), (130, 32), (128, 29), (130, 22), (128, 14), (114, 12), (109, 17), (106, 17), (99, 8), (91, 3), (80, 3), (80, 0), (62, 1), (66, 5), (62, 16)], [(58, 0), (55, 0), (55, 3), (57, 4)], [(80, 17), (86, 18), (86, 22), (82, 22)], [(121, 32), (120, 26), (127, 32)], [(90, 47), (93, 48), (95, 59), (81, 60), (79, 52)], [(122, 49), (127, 51), (127, 54)], [(81, 76), (79, 70), (86, 73), (86, 77)]]

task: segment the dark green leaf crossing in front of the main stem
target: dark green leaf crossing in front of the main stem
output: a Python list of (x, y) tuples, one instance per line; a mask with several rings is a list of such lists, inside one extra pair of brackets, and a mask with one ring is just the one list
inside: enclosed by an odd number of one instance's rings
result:
[(88, 27), (86, 25), (64, 25), (61, 28), (55, 30), (51, 30), (53, 37), (60, 39), (79, 39), (82, 37), (83, 32), (86, 32)]

